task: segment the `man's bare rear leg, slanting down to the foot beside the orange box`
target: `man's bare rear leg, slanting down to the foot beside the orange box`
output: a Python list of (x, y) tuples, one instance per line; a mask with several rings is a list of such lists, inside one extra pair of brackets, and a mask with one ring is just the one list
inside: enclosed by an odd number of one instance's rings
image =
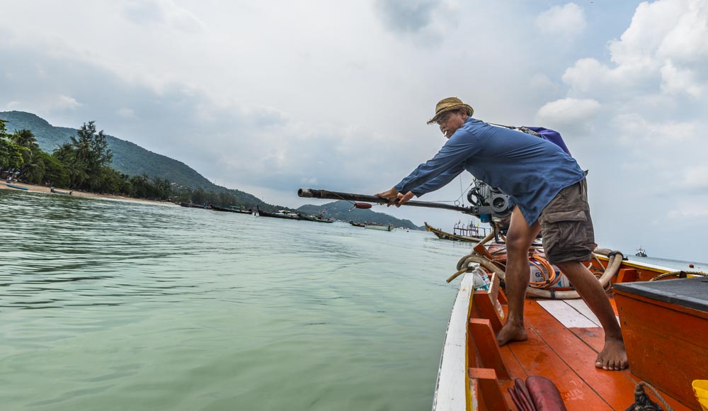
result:
[(600, 324), (603, 325), (603, 329), (605, 329), (605, 347), (598, 354), (595, 366), (603, 368), (603, 370), (622, 370), (627, 368), (627, 353), (624, 351), (622, 331), (619, 330), (619, 322), (617, 322), (615, 312), (612, 310), (610, 300), (605, 295), (603, 286), (590, 273), (590, 270), (578, 261), (556, 263), (556, 266), (568, 277), (573, 287), (590, 307), (590, 310), (593, 310), (593, 313), (600, 320)]

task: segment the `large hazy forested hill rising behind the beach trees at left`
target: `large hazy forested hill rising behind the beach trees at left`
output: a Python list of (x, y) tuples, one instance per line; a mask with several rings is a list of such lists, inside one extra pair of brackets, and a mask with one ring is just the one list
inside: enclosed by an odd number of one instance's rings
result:
[[(14, 130), (31, 130), (37, 138), (37, 144), (48, 153), (52, 153), (59, 145), (69, 141), (69, 136), (76, 136), (76, 129), (55, 127), (47, 120), (33, 113), (24, 111), (2, 111), (0, 118), (7, 120), (6, 128), (9, 132)], [(147, 174), (150, 177), (167, 179), (183, 187), (202, 188), (204, 191), (215, 193), (231, 193), (241, 203), (262, 204), (263, 201), (244, 191), (217, 186), (204, 176), (176, 159), (165, 157), (120, 138), (106, 135), (108, 148), (113, 152), (111, 167), (116, 171), (130, 176)]]

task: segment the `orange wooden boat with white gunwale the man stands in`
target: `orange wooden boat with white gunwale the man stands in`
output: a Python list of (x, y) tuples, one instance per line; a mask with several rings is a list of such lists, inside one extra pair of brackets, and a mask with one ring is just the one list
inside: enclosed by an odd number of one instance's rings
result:
[[(618, 298), (610, 295), (610, 301), (622, 324), (629, 359), (627, 370), (603, 371), (593, 366), (604, 344), (597, 317), (577, 297), (557, 299), (572, 297), (574, 291), (529, 288), (525, 301), (529, 339), (498, 347), (496, 332), (506, 316), (506, 295), (500, 286), (506, 255), (500, 250), (499, 243), (478, 245), (458, 263), (457, 274), (469, 272), (462, 277), (447, 327), (433, 410), (513, 409), (508, 388), (513, 388), (515, 378), (534, 375), (556, 385), (568, 410), (627, 409), (640, 382), (653, 385), (674, 410), (700, 410), (690, 385), (692, 379), (708, 376), (708, 281), (687, 278), (695, 284), (692, 294), (682, 297), (675, 291), (675, 281), (686, 280), (663, 280), (704, 274), (627, 261), (619, 252), (596, 250), (588, 264), (601, 283), (606, 281), (606, 289), (617, 286)], [(489, 274), (490, 286), (476, 291), (474, 277), (480, 272)], [(632, 291), (637, 287), (639, 291)], [(651, 298), (646, 288), (670, 288), (656, 294), (672, 297)], [(541, 297), (542, 291), (548, 298)], [(623, 301), (619, 293), (629, 299)], [(638, 308), (638, 304), (649, 305)], [(692, 331), (686, 332), (683, 325)], [(649, 388), (646, 392), (651, 394)], [(651, 397), (661, 402), (656, 395)]]

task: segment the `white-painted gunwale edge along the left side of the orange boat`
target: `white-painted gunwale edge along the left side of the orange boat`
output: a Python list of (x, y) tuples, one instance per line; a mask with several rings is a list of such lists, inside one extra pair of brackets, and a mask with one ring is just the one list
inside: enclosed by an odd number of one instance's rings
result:
[(447, 322), (433, 396), (433, 411), (467, 409), (467, 321), (472, 308), (472, 278), (472, 273), (462, 277), (455, 304), (452, 305), (450, 321)]

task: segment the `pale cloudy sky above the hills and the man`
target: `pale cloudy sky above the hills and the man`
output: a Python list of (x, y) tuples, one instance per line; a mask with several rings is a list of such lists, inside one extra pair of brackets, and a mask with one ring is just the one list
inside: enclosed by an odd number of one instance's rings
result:
[(3, 0), (0, 111), (96, 120), (296, 207), (314, 202), (299, 187), (398, 183), (445, 142), (435, 102), (458, 96), (476, 118), (564, 135), (601, 246), (706, 261), (706, 38), (706, 0)]

